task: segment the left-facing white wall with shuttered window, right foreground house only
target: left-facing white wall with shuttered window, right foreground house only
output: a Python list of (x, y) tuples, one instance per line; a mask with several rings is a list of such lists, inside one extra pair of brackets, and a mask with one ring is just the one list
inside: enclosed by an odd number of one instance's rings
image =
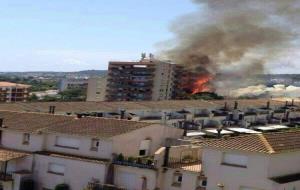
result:
[(239, 190), (241, 186), (273, 190), (273, 182), (268, 179), (269, 157), (263, 154), (243, 154), (248, 156), (247, 168), (222, 165), (222, 151), (205, 148), (202, 166), (208, 179), (207, 190), (218, 189), (217, 184), (224, 184), (225, 190)]

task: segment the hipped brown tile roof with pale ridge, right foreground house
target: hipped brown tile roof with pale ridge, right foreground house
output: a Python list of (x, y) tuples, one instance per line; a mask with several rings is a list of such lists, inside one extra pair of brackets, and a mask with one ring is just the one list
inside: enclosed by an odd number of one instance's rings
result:
[(265, 154), (300, 151), (300, 130), (209, 140), (204, 146)]

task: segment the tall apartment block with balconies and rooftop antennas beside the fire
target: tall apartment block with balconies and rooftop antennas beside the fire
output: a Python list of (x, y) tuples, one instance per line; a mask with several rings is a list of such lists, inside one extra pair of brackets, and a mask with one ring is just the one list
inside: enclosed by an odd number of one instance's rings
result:
[(108, 101), (168, 100), (172, 98), (175, 65), (150, 55), (137, 62), (110, 62)]

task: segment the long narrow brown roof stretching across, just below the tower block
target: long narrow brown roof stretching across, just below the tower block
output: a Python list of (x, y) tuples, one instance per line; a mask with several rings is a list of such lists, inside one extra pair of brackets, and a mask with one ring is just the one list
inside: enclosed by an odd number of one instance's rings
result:
[[(261, 107), (268, 99), (238, 100), (239, 109)], [(1, 103), (0, 110), (43, 112), (48, 113), (49, 106), (55, 106), (57, 113), (75, 112), (113, 112), (125, 110), (182, 110), (189, 108), (214, 109), (224, 106), (233, 107), (235, 100), (165, 100), (165, 101), (138, 101), (138, 102), (18, 102)], [(271, 107), (285, 105), (283, 101), (270, 100)], [(300, 105), (295, 102), (295, 105)]]

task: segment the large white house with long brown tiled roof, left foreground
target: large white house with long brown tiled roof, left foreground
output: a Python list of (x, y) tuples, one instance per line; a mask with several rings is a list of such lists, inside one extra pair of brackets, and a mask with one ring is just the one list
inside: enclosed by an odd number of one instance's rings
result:
[(119, 119), (9, 111), (0, 111), (0, 118), (0, 187), (4, 190), (22, 189), (30, 180), (37, 190), (58, 184), (72, 190), (95, 184), (154, 189), (155, 161), (142, 168), (138, 166), (145, 164), (129, 163), (129, 158), (115, 160), (114, 155), (150, 159), (166, 138), (182, 136), (180, 129)]

